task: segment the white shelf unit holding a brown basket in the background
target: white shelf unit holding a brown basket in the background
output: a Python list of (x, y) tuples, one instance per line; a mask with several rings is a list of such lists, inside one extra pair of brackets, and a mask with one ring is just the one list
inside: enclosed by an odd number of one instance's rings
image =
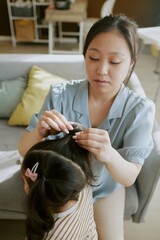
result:
[(45, 9), (51, 0), (7, 0), (12, 44), (17, 42), (48, 43)]

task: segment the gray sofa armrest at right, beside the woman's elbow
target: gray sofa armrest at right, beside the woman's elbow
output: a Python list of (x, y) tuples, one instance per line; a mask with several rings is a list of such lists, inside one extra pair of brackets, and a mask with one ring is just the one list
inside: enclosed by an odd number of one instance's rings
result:
[(149, 203), (153, 197), (160, 176), (160, 127), (154, 124), (153, 141), (154, 148), (146, 159), (142, 170), (136, 180), (136, 188), (139, 198), (137, 212), (132, 216), (133, 222), (144, 222)]

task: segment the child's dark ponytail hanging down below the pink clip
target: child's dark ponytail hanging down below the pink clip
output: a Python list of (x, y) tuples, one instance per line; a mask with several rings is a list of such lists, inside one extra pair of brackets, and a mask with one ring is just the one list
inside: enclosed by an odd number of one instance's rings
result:
[(27, 240), (42, 240), (54, 226), (54, 219), (48, 208), (45, 193), (45, 179), (38, 179), (27, 197)]

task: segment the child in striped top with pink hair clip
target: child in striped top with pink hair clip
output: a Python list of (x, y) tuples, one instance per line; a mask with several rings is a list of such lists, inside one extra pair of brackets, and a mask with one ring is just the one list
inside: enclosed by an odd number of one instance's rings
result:
[(79, 131), (74, 129), (63, 138), (34, 145), (24, 157), (28, 240), (98, 239), (89, 153), (73, 140)]

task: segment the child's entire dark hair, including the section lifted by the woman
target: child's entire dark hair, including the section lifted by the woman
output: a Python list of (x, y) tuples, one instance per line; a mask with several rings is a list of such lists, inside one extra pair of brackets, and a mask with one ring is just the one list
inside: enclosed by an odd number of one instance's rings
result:
[[(54, 226), (51, 215), (69, 200), (77, 199), (86, 184), (95, 180), (90, 153), (73, 139), (85, 127), (72, 123), (69, 134), (54, 140), (45, 140), (32, 146), (24, 157), (22, 174), (39, 162), (38, 179), (25, 177), (30, 191), (27, 197), (26, 233), (28, 240), (42, 240)], [(67, 159), (70, 160), (67, 160)]]

